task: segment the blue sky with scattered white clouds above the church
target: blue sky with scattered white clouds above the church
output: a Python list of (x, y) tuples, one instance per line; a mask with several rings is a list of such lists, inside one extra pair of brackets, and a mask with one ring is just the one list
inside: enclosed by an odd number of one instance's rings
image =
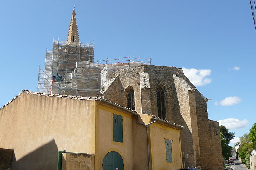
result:
[(95, 59), (152, 57), (152, 65), (187, 68), (188, 78), (212, 99), (209, 119), (222, 120), (236, 137), (256, 122), (249, 0), (4, 1), (0, 106), (22, 89), (37, 91), (46, 48), (52, 49), (53, 36), (66, 41), (73, 5), (80, 41), (95, 40)]

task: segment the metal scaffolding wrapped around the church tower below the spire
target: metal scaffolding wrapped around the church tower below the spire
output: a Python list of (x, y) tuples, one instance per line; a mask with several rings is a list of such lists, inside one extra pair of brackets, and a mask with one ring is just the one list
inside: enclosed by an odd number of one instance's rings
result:
[[(94, 44), (53, 41), (46, 50), (45, 68), (39, 68), (38, 92), (95, 97), (115, 70), (143, 64), (151, 59), (118, 57), (94, 62)], [(52, 81), (52, 75), (62, 77)]]

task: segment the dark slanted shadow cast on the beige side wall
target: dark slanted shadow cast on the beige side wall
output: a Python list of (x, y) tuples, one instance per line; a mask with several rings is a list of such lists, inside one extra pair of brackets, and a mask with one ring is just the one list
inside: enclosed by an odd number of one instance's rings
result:
[[(21, 146), (22, 147), (22, 146)], [(16, 161), (15, 150), (13, 156), (13, 170), (56, 170), (57, 169), (58, 147), (53, 139), (47, 144), (44, 144), (35, 151), (29, 153), (23, 158)]]

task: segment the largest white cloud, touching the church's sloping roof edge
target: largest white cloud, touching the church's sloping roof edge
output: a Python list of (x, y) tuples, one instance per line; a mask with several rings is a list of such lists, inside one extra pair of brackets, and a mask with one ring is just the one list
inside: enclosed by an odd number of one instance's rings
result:
[(195, 86), (203, 86), (208, 83), (211, 83), (212, 79), (207, 78), (212, 72), (210, 69), (187, 69), (182, 68), (184, 74), (188, 77), (188, 79), (193, 83)]

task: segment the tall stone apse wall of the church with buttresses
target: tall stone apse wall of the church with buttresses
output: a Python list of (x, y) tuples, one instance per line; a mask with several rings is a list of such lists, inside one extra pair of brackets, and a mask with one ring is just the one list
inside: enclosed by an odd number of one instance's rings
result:
[[(140, 74), (142, 73), (148, 73), (150, 88), (140, 87)], [(118, 75), (119, 84), (122, 84), (121, 91), (123, 94), (116, 92), (119, 95), (119, 97), (116, 97), (119, 98), (120, 104), (127, 106), (125, 89), (131, 86), (135, 93), (135, 110), (139, 113), (157, 115), (156, 91), (158, 86), (163, 88), (165, 92), (166, 119), (186, 128), (181, 130), (182, 152), (188, 154), (188, 158), (185, 160), (185, 167), (197, 166), (206, 170), (222, 165), (217, 160), (219, 157), (220, 159), (222, 158), (221, 148), (215, 146), (216, 143), (220, 142), (220, 138), (216, 138), (216, 135), (213, 136), (218, 131), (219, 126), (216, 124), (218, 122), (208, 123), (207, 99), (197, 91), (180, 69), (143, 65), (118, 70), (115, 75)], [(112, 87), (116, 87), (117, 84), (117, 82), (113, 82), (103, 92), (102, 95), (105, 99), (113, 99), (110, 96), (111, 93), (115, 92), (113, 89), (116, 88), (112, 89)], [(113, 101), (117, 102), (117, 99), (113, 99)], [(217, 151), (215, 151), (214, 147), (217, 147)], [(214, 157), (217, 162), (213, 161), (212, 158)]]

